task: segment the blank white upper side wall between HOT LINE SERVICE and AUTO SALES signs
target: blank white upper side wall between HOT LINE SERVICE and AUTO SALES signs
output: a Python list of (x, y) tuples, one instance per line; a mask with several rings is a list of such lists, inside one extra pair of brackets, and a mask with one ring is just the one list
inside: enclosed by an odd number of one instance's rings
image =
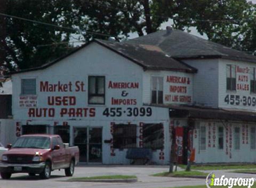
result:
[(218, 59), (184, 60), (197, 69), (193, 75), (193, 102), (218, 107)]

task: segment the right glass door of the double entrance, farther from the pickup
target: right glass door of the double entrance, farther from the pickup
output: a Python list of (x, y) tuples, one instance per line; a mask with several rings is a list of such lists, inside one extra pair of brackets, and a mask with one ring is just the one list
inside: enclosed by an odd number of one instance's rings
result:
[(102, 128), (89, 127), (89, 163), (102, 162)]

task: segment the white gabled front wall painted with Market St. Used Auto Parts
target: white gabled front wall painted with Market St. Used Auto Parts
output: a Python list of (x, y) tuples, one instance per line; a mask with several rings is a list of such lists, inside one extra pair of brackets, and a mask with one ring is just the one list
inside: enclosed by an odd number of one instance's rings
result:
[[(109, 49), (103, 48), (101, 45), (92, 43), (81, 49), (80, 51), (72, 54), (71, 56), (63, 59), (55, 65), (49, 68), (26, 72), (13, 75), (13, 118), (15, 119), (15, 125), (21, 126), (24, 124), (46, 124), (50, 126), (62, 125), (63, 122), (71, 126), (71, 144), (73, 143), (73, 129), (72, 127), (102, 127), (102, 140), (103, 140), (103, 163), (105, 164), (128, 164), (129, 160), (126, 159), (126, 150), (115, 150), (115, 156), (110, 155), (110, 144), (104, 143), (104, 140), (111, 139), (110, 124), (113, 123), (163, 123), (164, 124), (164, 140), (165, 146), (163, 151), (156, 150), (153, 152), (153, 161), (157, 164), (167, 164), (169, 161), (169, 114), (168, 108), (156, 108), (151, 106), (143, 106), (142, 96), (143, 93), (143, 68), (135, 63), (127, 60), (126, 58), (112, 52)], [(99, 75), (105, 76), (105, 105), (89, 105), (88, 104), (88, 76)], [(31, 102), (36, 101), (36, 105), (32, 103), (29, 107), (24, 105), (20, 106), (21, 94), (21, 78), (36, 78), (37, 79), (37, 95), (31, 99)], [(50, 84), (69, 84), (71, 83), (71, 90), (67, 92), (63, 91), (40, 91), (40, 82), (49, 82)], [(84, 83), (85, 91), (75, 91), (76, 82)], [(111, 82), (133, 82), (138, 84), (138, 88), (134, 89), (113, 89), (109, 87)], [(69, 86), (68, 86), (69, 87)], [(128, 93), (126, 96), (122, 96), (122, 93)], [(47, 103), (48, 97), (75, 97), (76, 105), (49, 105)], [(113, 105), (111, 99), (122, 100), (136, 100), (133, 104), (121, 104)], [(63, 115), (60, 112), (67, 108), (73, 108), (75, 110), (79, 108), (88, 108), (87, 115)], [(29, 110), (30, 109), (30, 110)], [(55, 115), (47, 114), (39, 117), (31, 115), (31, 109), (49, 110), (53, 109)], [(143, 111), (146, 110), (144, 113)], [(148, 110), (151, 110), (149, 113)], [(92, 110), (93, 113), (89, 113)], [(115, 115), (108, 117), (104, 115), (104, 112), (113, 110)], [(120, 110), (121, 115), (117, 115), (117, 110)], [(138, 110), (138, 114), (136, 111)], [(95, 112), (95, 113), (94, 113)], [(19, 132), (16, 132), (19, 134)], [(138, 131), (137, 131), (138, 134)], [(137, 140), (138, 142), (139, 140)], [(164, 159), (159, 159), (159, 153), (164, 152)]]

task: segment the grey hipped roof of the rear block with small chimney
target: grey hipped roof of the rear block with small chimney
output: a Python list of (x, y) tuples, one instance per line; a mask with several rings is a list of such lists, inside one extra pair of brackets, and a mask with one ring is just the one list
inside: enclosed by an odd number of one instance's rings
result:
[(159, 30), (143, 37), (131, 39), (126, 43), (155, 45), (164, 53), (178, 59), (224, 58), (256, 62), (256, 56), (228, 48), (181, 30), (172, 30), (169, 33), (166, 30)]

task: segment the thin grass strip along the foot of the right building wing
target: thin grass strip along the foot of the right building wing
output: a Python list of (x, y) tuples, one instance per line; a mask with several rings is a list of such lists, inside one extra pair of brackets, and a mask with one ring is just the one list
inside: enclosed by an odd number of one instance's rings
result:
[[(186, 168), (186, 165), (179, 165), (180, 168)], [(193, 170), (228, 170), (228, 169), (252, 169), (256, 164), (234, 164), (234, 165), (191, 165)]]

